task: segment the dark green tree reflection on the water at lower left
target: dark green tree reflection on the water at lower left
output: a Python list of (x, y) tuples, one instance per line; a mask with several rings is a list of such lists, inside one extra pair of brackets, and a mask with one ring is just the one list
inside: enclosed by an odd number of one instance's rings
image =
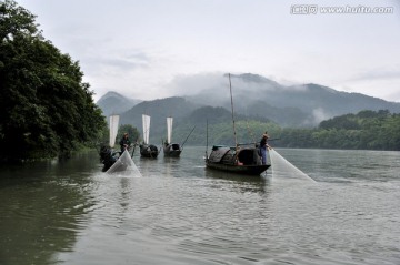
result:
[[(73, 248), (91, 183), (92, 154), (0, 172), (0, 264), (48, 264)], [(74, 177), (74, 176), (79, 176)]]

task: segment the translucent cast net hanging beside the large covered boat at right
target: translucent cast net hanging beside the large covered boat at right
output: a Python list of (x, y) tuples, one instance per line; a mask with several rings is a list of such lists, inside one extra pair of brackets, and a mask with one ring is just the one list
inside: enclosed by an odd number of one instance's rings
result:
[(287, 161), (273, 149), (269, 150), (269, 154), (271, 159), (272, 177), (307, 179), (314, 182), (314, 180)]

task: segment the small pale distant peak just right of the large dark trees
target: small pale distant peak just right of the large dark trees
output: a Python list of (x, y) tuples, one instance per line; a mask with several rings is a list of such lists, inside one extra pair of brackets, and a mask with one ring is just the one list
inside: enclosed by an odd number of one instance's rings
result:
[(101, 96), (96, 104), (102, 110), (104, 116), (109, 116), (111, 114), (121, 114), (140, 102), (141, 100), (128, 99), (110, 91)]

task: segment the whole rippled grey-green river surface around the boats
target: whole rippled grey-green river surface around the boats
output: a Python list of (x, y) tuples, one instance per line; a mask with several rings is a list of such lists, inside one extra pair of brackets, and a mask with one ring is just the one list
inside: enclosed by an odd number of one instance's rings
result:
[[(312, 180), (96, 152), (0, 169), (0, 264), (400, 264), (400, 152), (277, 149)], [(273, 164), (272, 164), (273, 167)]]

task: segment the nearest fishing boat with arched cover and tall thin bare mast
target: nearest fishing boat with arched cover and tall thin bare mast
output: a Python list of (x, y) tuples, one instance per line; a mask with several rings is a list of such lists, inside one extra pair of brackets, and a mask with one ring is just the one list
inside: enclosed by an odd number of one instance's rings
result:
[[(232, 122), (233, 122), (233, 135), (234, 146), (227, 145), (213, 145), (210, 155), (206, 151), (206, 166), (213, 170), (220, 170), (226, 172), (233, 172), (237, 174), (246, 175), (260, 175), (264, 172), (270, 164), (262, 164), (259, 155), (259, 147), (252, 144), (238, 144), (234, 114), (233, 114), (233, 99), (232, 86), (229, 74), (229, 89), (231, 95), (232, 108)], [(208, 145), (208, 129), (207, 129), (207, 145)]]

